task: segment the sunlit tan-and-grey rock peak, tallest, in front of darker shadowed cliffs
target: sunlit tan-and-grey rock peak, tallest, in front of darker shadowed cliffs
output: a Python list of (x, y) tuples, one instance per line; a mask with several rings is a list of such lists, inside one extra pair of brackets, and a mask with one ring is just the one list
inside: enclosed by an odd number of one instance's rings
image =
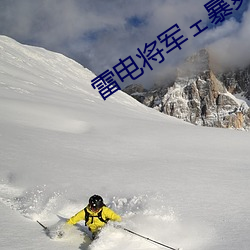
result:
[(163, 112), (197, 125), (248, 128), (249, 107), (235, 98), (210, 68), (209, 53), (201, 50), (179, 69), (165, 94)]

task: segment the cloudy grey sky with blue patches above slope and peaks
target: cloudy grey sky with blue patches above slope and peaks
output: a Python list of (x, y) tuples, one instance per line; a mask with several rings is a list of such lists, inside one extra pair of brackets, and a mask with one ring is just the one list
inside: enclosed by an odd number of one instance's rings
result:
[[(231, 0), (225, 0), (231, 5)], [(104, 72), (132, 56), (137, 48), (157, 40), (174, 24), (180, 35), (189, 40), (182, 49), (165, 54), (161, 64), (153, 63), (153, 71), (145, 68), (140, 83), (148, 86), (166, 78), (184, 58), (204, 47), (211, 47), (222, 63), (249, 63), (249, 0), (243, 0), (238, 11), (226, 20), (212, 25), (204, 4), (208, 0), (1, 0), (0, 34), (22, 43), (41, 46), (69, 56), (96, 74)], [(238, 3), (236, 3), (236, 6)], [(233, 6), (232, 7), (236, 7)], [(190, 26), (202, 20), (209, 29), (193, 37)], [(237, 38), (237, 39), (236, 39)], [(158, 48), (165, 48), (157, 43)], [(237, 51), (236, 51), (237, 48)], [(165, 48), (166, 49), (166, 48)], [(165, 52), (164, 52), (165, 53)], [(231, 55), (231, 56), (230, 56)], [(126, 79), (121, 86), (133, 83)]]

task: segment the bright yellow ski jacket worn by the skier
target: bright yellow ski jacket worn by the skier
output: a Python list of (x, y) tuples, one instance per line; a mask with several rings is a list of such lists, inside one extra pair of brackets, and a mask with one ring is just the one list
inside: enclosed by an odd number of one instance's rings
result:
[[(86, 207), (87, 212), (89, 213), (88, 221), (85, 221), (86, 226), (90, 229), (92, 233), (97, 232), (100, 228), (102, 228), (106, 223), (104, 221), (112, 220), (112, 221), (121, 221), (120, 215), (116, 214), (113, 210), (110, 208), (103, 206), (99, 211), (93, 212), (89, 209), (89, 207)], [(98, 218), (98, 214), (101, 212), (101, 217), (104, 221), (100, 220)], [(85, 220), (85, 211), (84, 209), (79, 211), (77, 214), (72, 216), (68, 221), (67, 224), (74, 225), (80, 220)]]

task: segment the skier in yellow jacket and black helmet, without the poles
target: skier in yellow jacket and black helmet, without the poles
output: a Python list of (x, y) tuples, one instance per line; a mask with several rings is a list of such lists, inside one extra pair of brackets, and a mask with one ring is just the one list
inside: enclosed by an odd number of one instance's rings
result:
[(80, 220), (85, 220), (85, 226), (89, 228), (94, 239), (109, 220), (120, 222), (122, 219), (120, 215), (105, 206), (101, 196), (95, 194), (89, 198), (89, 204), (72, 216), (67, 224), (74, 225)]

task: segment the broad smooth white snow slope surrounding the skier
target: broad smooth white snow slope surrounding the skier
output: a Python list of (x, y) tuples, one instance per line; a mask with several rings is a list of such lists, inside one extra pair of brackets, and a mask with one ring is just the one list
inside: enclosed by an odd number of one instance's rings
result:
[[(50, 227), (100, 194), (122, 225), (184, 250), (250, 249), (248, 132), (196, 127), (123, 92), (63, 55), (0, 37), (0, 249), (153, 250), (108, 225)], [(82, 226), (81, 226), (82, 225)]]

